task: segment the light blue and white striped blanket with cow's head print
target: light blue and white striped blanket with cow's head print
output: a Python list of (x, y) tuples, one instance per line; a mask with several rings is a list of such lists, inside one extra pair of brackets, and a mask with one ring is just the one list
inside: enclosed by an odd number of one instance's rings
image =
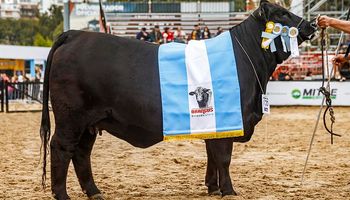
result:
[(159, 47), (164, 140), (243, 136), (230, 32)]

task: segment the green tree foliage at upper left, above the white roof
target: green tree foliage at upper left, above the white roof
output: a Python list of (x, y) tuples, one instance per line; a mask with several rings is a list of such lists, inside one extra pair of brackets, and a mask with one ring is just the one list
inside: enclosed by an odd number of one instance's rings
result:
[(51, 46), (63, 32), (62, 7), (53, 5), (49, 13), (35, 18), (0, 19), (0, 44)]

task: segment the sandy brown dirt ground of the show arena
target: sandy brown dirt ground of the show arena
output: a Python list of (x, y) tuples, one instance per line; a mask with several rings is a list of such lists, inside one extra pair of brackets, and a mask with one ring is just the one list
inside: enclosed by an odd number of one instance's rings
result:
[[(239, 196), (224, 199), (350, 199), (350, 108), (335, 108), (342, 137), (334, 145), (319, 126), (301, 185), (317, 113), (318, 107), (272, 108), (250, 142), (234, 145), (230, 171)], [(40, 113), (0, 114), (0, 199), (51, 199), (50, 188), (41, 189), (39, 122)], [(221, 199), (206, 194), (200, 140), (138, 149), (104, 133), (92, 163), (106, 199)], [(67, 190), (72, 199), (87, 199), (72, 165)]]

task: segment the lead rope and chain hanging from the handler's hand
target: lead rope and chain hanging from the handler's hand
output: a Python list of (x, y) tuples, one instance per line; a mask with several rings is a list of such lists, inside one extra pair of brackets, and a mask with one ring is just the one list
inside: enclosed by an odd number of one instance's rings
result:
[[(331, 73), (329, 73), (329, 67), (328, 67), (328, 55), (327, 55), (327, 75), (328, 75), (328, 80), (327, 80), (327, 86), (324, 87), (324, 46), (325, 46), (325, 37), (324, 37), (324, 31), (325, 29), (323, 28), (321, 30), (321, 53), (322, 53), (322, 86), (321, 88), (319, 89), (320, 92), (324, 95), (323, 96), (323, 99), (322, 99), (322, 103), (321, 103), (321, 106), (320, 106), (320, 111), (318, 112), (318, 116), (317, 116), (317, 120), (316, 120), (316, 124), (314, 126), (314, 131), (313, 131), (313, 134), (312, 134), (312, 137), (311, 137), (311, 141), (310, 141), (310, 145), (309, 145), (309, 149), (308, 149), (308, 152), (307, 152), (307, 156), (306, 156), (306, 160), (305, 160), (305, 164), (304, 164), (304, 169), (303, 169), (303, 174), (301, 176), (301, 184), (303, 184), (303, 181), (304, 181), (304, 175), (305, 175), (305, 171), (306, 171), (306, 166), (307, 166), (307, 163), (308, 163), (308, 160), (309, 160), (309, 157), (310, 157), (310, 153), (311, 153), (311, 148), (312, 148), (312, 144), (314, 142), (314, 138), (315, 138), (315, 134), (316, 134), (316, 130), (317, 130), (317, 127), (318, 127), (318, 124), (319, 124), (319, 121), (320, 121), (320, 118), (321, 118), (321, 112), (322, 112), (322, 109), (323, 109), (323, 105), (324, 105), (324, 102), (326, 101), (326, 105), (327, 105), (327, 108), (326, 110), (324, 111), (323, 113), (323, 125), (325, 127), (325, 129), (327, 130), (327, 132), (331, 135), (331, 144), (333, 144), (333, 136), (338, 136), (338, 137), (341, 137), (341, 135), (339, 134), (335, 134), (333, 133), (333, 125), (335, 123), (335, 116), (334, 116), (334, 110), (333, 110), (333, 107), (332, 107), (332, 99), (331, 99), (331, 95), (330, 95), (330, 80), (331, 80), (331, 76), (333, 76), (333, 70)], [(327, 54), (327, 51), (326, 51), (326, 54)], [(329, 110), (329, 114), (330, 114), (330, 117), (331, 117), (331, 129), (329, 130), (328, 127), (327, 127), (327, 123), (326, 123), (326, 114), (327, 114), (327, 111)]]

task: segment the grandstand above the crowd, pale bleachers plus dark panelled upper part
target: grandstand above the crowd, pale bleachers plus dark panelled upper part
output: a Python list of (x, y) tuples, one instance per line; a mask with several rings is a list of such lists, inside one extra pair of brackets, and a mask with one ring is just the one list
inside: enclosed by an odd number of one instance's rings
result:
[[(240, 3), (239, 3), (240, 2)], [(195, 24), (208, 26), (212, 33), (217, 27), (224, 30), (237, 25), (244, 20), (245, 0), (241, 1), (189, 1), (165, 2), (148, 1), (133, 2), (134, 12), (106, 12), (106, 19), (114, 35), (135, 37), (141, 27), (150, 30), (155, 25), (163, 27), (182, 27), (190, 33)], [(123, 3), (128, 8), (129, 4)]]

